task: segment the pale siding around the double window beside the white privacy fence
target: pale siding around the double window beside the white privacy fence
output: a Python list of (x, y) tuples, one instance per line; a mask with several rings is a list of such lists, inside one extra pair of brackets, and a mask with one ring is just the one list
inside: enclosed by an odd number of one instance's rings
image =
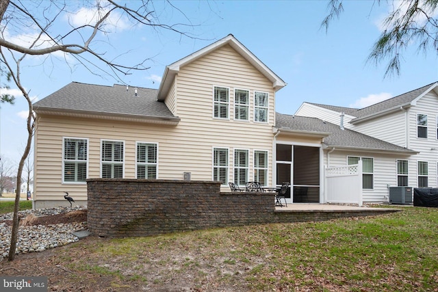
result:
[[(347, 157), (370, 157), (374, 160), (374, 189), (363, 189), (364, 202), (387, 202), (389, 187), (397, 186), (397, 159), (407, 159), (405, 155), (385, 155), (378, 153), (339, 151), (329, 155), (324, 151), (324, 163), (330, 167), (346, 166)], [(329, 164), (327, 157), (330, 158)]]

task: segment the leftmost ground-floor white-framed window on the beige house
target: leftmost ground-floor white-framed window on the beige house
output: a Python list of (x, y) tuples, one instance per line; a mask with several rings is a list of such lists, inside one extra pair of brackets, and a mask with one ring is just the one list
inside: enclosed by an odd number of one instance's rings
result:
[(88, 140), (64, 138), (63, 144), (64, 183), (85, 183), (87, 178)]

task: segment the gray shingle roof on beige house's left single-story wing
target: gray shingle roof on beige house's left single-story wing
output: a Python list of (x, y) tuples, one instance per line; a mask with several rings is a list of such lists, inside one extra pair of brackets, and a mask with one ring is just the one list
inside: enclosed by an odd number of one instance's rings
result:
[(125, 85), (94, 85), (72, 82), (34, 104), (38, 114), (63, 114), (67, 116), (105, 117), (112, 120), (131, 120), (177, 124), (164, 103), (156, 100), (157, 90)]

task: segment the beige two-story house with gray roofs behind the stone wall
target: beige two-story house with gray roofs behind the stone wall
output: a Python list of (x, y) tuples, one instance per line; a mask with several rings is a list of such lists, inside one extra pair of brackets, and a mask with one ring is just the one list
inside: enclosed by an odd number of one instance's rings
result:
[(222, 191), (230, 181), (288, 181), (289, 202), (326, 202), (324, 165), (339, 152), (356, 163), (375, 154), (375, 172), (385, 159), (415, 154), (322, 120), (276, 114), (285, 85), (232, 35), (167, 66), (159, 90), (70, 83), (34, 105), (34, 207), (63, 204), (64, 191), (86, 204), (86, 178), (214, 180)]

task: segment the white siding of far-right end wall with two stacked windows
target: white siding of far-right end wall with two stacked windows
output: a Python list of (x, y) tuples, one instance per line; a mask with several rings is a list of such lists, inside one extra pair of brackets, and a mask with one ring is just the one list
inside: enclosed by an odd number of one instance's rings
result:
[[(409, 184), (417, 187), (417, 161), (428, 162), (428, 187), (438, 187), (437, 182), (437, 111), (438, 96), (429, 92), (409, 109), (409, 148), (419, 151), (409, 159)], [(427, 139), (417, 137), (417, 114), (426, 114), (428, 121)]]

